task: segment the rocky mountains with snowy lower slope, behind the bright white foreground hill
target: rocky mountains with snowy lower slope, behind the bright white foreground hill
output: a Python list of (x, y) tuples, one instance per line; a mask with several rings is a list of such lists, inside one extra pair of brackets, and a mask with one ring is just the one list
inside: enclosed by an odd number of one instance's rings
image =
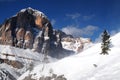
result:
[[(67, 37), (71, 41), (66, 41)], [(0, 80), (16, 80), (38, 64), (74, 54), (86, 40), (76, 41), (72, 35), (54, 30), (41, 11), (22, 9), (0, 25)]]

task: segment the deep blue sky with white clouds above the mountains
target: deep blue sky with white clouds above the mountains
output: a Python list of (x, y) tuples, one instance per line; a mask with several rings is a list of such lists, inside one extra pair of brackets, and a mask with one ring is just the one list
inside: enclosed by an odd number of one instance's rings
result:
[(0, 0), (0, 23), (23, 8), (45, 13), (55, 29), (95, 40), (119, 31), (120, 0)]

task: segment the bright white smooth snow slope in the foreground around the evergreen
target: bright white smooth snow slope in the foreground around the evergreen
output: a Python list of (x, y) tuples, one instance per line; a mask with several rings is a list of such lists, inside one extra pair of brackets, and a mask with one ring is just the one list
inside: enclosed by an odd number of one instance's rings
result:
[(39, 80), (51, 73), (64, 75), (67, 80), (120, 80), (120, 33), (111, 38), (109, 55), (100, 55), (101, 44), (94, 44), (87, 50), (48, 64), (40, 64), (27, 71), (18, 80), (32, 75)]

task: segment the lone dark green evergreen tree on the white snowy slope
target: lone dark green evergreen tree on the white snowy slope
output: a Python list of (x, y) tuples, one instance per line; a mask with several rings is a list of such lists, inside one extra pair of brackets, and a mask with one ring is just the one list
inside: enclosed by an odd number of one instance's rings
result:
[(110, 35), (106, 30), (104, 30), (102, 34), (101, 54), (104, 54), (104, 55), (108, 54), (108, 50), (110, 50), (109, 47), (110, 47)]

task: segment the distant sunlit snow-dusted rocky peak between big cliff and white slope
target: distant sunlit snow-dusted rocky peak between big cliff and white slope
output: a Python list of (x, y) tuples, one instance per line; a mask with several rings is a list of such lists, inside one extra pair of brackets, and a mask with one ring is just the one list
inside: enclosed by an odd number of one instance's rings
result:
[(62, 38), (62, 45), (64, 49), (79, 53), (92, 46), (92, 41), (89, 38), (64, 37)]

